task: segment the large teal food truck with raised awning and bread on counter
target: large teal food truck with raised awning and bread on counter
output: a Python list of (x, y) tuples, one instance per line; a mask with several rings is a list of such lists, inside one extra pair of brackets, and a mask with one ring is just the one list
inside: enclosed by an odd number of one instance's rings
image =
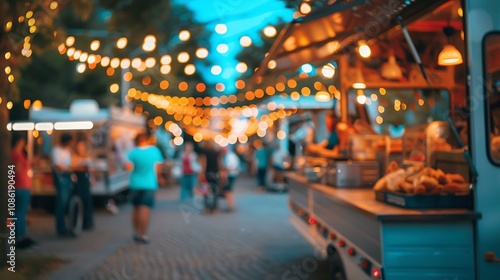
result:
[(332, 279), (500, 279), (499, 3), (305, 3), (256, 77), (334, 61), (347, 140), (287, 174), (293, 226)]

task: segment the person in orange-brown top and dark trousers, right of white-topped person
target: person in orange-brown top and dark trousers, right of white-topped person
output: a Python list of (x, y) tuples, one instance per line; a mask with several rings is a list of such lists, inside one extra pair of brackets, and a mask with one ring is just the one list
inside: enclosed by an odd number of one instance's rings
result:
[(94, 204), (92, 201), (91, 174), (92, 157), (88, 153), (88, 144), (85, 141), (79, 141), (76, 144), (76, 155), (73, 159), (74, 174), (76, 176), (76, 192), (83, 203), (83, 225), (84, 230), (94, 228)]

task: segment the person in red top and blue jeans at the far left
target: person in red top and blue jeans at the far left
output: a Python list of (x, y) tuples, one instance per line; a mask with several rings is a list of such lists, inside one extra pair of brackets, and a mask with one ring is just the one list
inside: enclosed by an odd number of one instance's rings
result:
[(35, 241), (26, 236), (26, 214), (31, 199), (31, 167), (25, 154), (26, 140), (21, 134), (12, 135), (11, 161), (14, 165), (16, 180), (16, 248), (24, 249), (35, 245)]

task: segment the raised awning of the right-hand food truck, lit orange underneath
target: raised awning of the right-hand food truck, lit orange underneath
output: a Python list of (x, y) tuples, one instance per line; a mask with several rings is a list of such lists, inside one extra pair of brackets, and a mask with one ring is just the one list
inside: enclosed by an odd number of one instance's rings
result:
[[(403, 21), (411, 22), (447, 1), (330, 1), (333, 4), (285, 26), (254, 77), (297, 69), (305, 63), (332, 60), (335, 54), (348, 52), (354, 43), (375, 38), (396, 26), (398, 15)], [(271, 61), (276, 63), (270, 64)]]

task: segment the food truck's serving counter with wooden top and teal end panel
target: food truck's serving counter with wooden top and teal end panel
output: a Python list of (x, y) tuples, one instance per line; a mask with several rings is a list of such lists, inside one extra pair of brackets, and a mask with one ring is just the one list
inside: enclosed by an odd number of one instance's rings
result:
[(349, 279), (474, 279), (479, 213), (399, 208), (372, 189), (287, 178), (292, 225), (317, 250), (339, 256)]

